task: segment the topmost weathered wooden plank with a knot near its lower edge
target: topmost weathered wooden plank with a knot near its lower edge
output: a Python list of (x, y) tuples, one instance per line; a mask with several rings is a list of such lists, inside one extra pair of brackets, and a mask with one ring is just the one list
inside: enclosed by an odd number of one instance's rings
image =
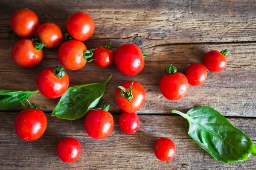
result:
[[(3, 0), (0, 37), (6, 38), (11, 14), (35, 11), (41, 22), (65, 30), (67, 17), (85, 11), (96, 24), (92, 39), (134, 42), (141, 47), (188, 42), (255, 41), (253, 0)], [(154, 40), (154, 41), (152, 41)]]

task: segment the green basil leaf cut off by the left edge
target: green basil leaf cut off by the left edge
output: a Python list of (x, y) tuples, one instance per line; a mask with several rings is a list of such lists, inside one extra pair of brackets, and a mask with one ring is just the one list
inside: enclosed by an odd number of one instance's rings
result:
[(0, 90), (0, 110), (17, 108), (21, 105), (21, 102), (25, 102), (26, 99), (29, 99), (31, 94), (38, 92), (39, 91)]

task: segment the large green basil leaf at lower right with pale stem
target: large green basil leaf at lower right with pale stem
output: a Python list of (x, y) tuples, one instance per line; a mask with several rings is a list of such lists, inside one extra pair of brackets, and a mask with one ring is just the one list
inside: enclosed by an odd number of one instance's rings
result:
[(198, 106), (186, 114), (172, 113), (188, 120), (189, 136), (216, 160), (229, 163), (245, 161), (251, 153), (256, 155), (252, 140), (213, 108)]

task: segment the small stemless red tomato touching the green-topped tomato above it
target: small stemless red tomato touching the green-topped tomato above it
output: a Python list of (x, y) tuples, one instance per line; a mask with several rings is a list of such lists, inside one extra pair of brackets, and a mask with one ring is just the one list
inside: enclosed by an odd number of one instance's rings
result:
[(119, 127), (124, 133), (135, 133), (140, 127), (140, 119), (136, 113), (123, 112), (119, 117)]

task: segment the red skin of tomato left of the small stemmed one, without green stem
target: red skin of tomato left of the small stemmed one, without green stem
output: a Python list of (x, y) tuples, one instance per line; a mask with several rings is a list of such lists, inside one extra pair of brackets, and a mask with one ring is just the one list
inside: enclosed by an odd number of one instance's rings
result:
[(86, 64), (84, 59), (84, 51), (86, 50), (83, 42), (68, 40), (63, 42), (58, 49), (58, 60), (65, 68), (78, 70)]

